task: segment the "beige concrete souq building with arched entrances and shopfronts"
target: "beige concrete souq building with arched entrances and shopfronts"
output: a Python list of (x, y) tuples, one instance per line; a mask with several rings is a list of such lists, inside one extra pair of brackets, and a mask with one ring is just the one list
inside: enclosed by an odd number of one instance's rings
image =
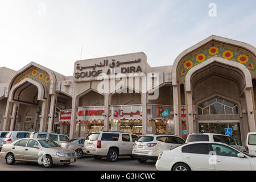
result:
[(212, 35), (173, 61), (150, 67), (143, 52), (79, 60), (73, 76), (34, 62), (19, 71), (2, 67), (0, 130), (186, 138), (230, 128), (245, 145), (255, 131), (255, 47)]

